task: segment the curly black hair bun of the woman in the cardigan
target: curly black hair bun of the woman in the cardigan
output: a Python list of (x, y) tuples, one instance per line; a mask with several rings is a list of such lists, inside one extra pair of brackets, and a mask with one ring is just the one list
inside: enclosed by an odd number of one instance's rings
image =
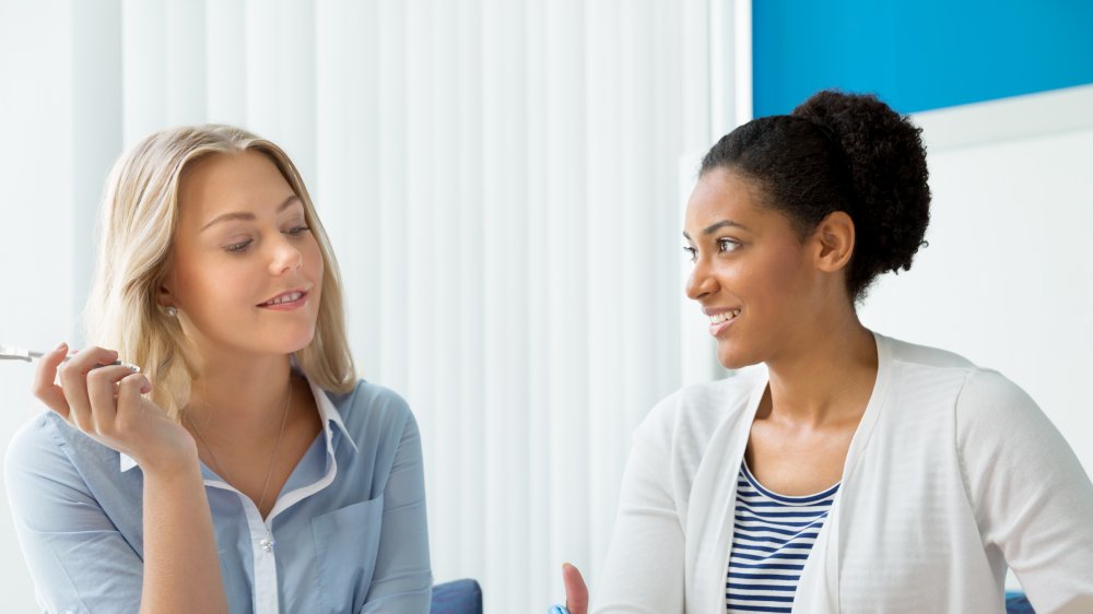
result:
[(921, 129), (874, 95), (832, 90), (812, 95), (792, 115), (812, 121), (846, 154), (862, 281), (909, 270), (930, 221)]

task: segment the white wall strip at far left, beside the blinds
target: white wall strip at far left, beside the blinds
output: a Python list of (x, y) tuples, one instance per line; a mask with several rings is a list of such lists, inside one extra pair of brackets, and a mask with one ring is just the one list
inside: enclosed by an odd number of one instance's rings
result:
[[(69, 24), (48, 16), (56, 3), (0, 2), (0, 343), (33, 347), (52, 347), (62, 336), (72, 340), (78, 329), (72, 80), (62, 76), (72, 71), (72, 40)], [(35, 95), (14, 95), (13, 84), (21, 94)], [(0, 362), (0, 454), (32, 413), (31, 375), (31, 365)], [(0, 578), (0, 610), (33, 612), (34, 589), (5, 495)]]

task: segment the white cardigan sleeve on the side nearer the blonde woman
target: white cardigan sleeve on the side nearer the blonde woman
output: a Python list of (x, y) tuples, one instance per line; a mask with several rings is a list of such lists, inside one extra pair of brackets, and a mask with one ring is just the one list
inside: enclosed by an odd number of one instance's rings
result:
[(683, 528), (671, 479), (671, 418), (658, 406), (634, 433), (595, 614), (682, 614)]

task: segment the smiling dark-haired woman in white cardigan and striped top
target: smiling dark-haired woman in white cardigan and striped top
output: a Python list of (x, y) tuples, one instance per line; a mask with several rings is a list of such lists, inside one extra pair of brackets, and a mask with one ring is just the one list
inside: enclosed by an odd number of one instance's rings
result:
[[(1093, 485), (997, 371), (877, 334), (855, 305), (929, 220), (919, 135), (822, 92), (706, 155), (686, 293), (740, 369), (635, 432), (592, 611), (1093, 612)], [(563, 570), (584, 614), (577, 570)]]

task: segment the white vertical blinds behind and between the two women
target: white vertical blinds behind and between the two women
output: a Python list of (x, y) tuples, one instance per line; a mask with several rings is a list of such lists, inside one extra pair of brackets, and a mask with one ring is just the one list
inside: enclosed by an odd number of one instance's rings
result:
[(51, 2), (71, 28), (73, 312), (79, 229), (122, 147), (203, 121), (278, 142), (331, 236), (361, 375), (420, 423), (437, 581), (538, 612), (563, 562), (595, 580), (631, 430), (713, 374), (681, 298), (681, 198), (727, 128), (724, 15), (748, 3)]

